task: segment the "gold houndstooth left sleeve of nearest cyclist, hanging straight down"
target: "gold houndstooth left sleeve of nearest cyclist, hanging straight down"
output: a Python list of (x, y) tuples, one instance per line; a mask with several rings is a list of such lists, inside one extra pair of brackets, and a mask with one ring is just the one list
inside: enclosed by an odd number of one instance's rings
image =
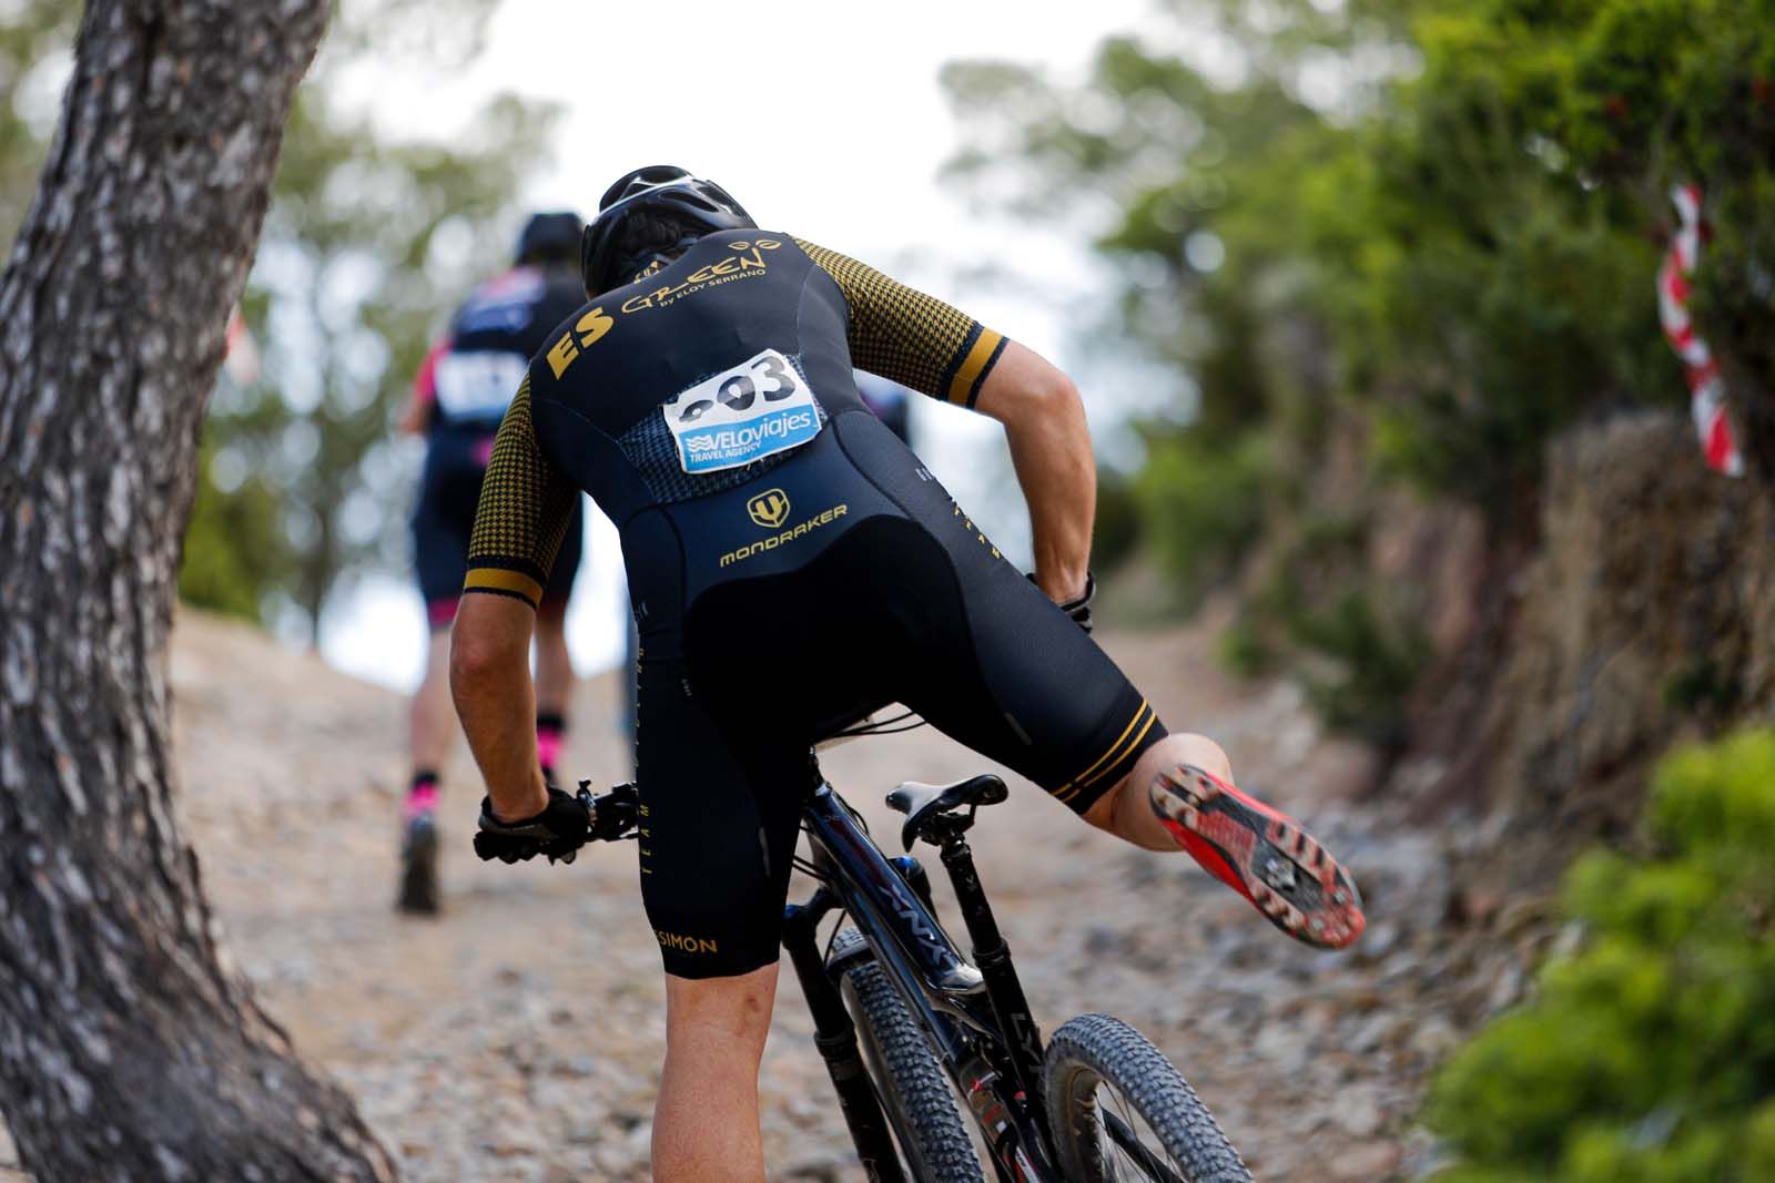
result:
[(573, 520), (579, 490), (548, 463), (531, 422), (525, 374), (493, 440), (469, 539), (465, 592), (517, 596), (534, 608)]

